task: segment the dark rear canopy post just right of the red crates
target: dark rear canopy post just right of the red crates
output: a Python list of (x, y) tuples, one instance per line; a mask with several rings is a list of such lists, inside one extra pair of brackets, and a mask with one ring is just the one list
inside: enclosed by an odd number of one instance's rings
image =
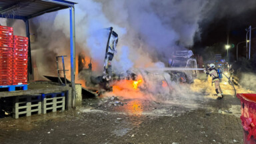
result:
[(30, 46), (30, 33), (29, 33), (29, 19), (25, 20), (25, 25), (26, 25), (26, 32), (27, 32), (27, 37), (29, 38), (29, 45), (28, 45), (28, 64), (27, 64), (27, 80), (32, 80), (33, 79), (33, 70), (32, 70), (32, 61), (31, 61), (31, 46)]

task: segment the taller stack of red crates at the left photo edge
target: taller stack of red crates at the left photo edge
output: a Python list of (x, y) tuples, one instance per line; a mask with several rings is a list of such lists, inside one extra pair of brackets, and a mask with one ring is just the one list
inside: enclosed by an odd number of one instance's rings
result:
[(0, 26), (0, 85), (12, 85), (13, 47), (13, 27)]

